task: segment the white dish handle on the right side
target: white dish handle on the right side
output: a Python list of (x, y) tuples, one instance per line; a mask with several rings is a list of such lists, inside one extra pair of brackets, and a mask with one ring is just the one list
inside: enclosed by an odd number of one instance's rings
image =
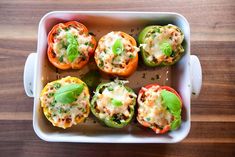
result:
[(198, 97), (202, 86), (202, 67), (197, 56), (190, 55), (191, 95)]

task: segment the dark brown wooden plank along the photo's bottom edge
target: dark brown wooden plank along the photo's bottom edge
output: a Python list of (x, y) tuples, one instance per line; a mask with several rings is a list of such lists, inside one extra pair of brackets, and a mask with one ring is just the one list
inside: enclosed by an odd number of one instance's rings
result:
[(146, 157), (233, 157), (235, 144), (76, 144), (43, 141), (0, 143), (0, 156), (146, 156)]

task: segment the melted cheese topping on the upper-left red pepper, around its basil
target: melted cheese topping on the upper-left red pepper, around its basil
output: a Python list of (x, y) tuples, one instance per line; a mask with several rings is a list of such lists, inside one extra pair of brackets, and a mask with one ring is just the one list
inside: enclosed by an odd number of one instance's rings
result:
[(79, 28), (69, 27), (68, 30), (63, 28), (59, 28), (59, 33), (54, 36), (53, 50), (56, 54), (56, 57), (60, 62), (70, 63), (67, 57), (67, 34), (71, 33), (76, 37), (78, 42), (78, 51), (80, 55), (73, 61), (73, 63), (79, 63), (82, 59), (89, 57), (88, 52), (89, 49), (93, 48), (94, 45), (91, 44), (92, 36), (88, 33), (84, 33)]

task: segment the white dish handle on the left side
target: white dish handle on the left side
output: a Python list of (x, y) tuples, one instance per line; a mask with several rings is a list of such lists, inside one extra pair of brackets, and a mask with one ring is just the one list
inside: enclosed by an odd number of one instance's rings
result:
[(34, 71), (36, 62), (36, 53), (29, 54), (24, 67), (24, 90), (27, 96), (34, 97)]

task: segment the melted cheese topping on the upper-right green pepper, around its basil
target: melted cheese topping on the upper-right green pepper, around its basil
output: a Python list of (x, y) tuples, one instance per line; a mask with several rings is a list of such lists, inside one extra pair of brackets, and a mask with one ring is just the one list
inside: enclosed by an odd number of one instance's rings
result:
[[(167, 26), (159, 26), (159, 31), (155, 31), (154, 33), (148, 34), (144, 44), (142, 44), (143, 49), (148, 53), (147, 60), (149, 61), (168, 61), (172, 62), (173, 57), (167, 57), (159, 47), (159, 43), (165, 41), (168, 42), (171, 47), (172, 51), (178, 53), (178, 51), (184, 51), (181, 43), (183, 42), (184, 35), (181, 33), (178, 27), (174, 25), (167, 25)], [(182, 53), (179, 52), (179, 53)]]

